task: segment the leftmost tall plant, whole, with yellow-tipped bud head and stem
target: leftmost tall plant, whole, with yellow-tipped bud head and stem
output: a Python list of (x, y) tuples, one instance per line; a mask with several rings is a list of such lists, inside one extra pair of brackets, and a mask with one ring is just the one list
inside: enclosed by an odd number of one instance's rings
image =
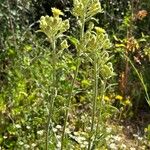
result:
[[(62, 20), (60, 15), (64, 15), (57, 8), (52, 8), (53, 16), (42, 16), (40, 19), (40, 31), (47, 35), (48, 40), (51, 44), (51, 66), (52, 66), (52, 89), (51, 89), (51, 96), (48, 106), (48, 119), (47, 119), (47, 128), (46, 128), (46, 149), (49, 149), (49, 128), (50, 123), (52, 123), (53, 118), (53, 110), (54, 110), (54, 101), (57, 96), (57, 66), (59, 63), (59, 52), (58, 48), (56, 47), (57, 41), (59, 38), (63, 37), (63, 33), (67, 31), (70, 27), (69, 20)], [(63, 40), (60, 44), (61, 50), (68, 48), (68, 43), (66, 40)]]

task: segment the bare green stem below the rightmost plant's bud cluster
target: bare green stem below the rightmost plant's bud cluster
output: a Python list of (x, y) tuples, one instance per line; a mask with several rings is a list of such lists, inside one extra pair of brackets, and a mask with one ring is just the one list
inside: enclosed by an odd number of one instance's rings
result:
[(95, 115), (96, 115), (96, 103), (97, 103), (97, 96), (98, 96), (98, 77), (97, 77), (97, 58), (94, 57), (94, 89), (93, 89), (93, 106), (92, 106), (92, 123), (91, 123), (91, 131), (90, 131), (90, 137), (88, 142), (88, 150), (91, 150), (91, 141), (92, 136), (94, 133), (94, 122), (95, 122)]

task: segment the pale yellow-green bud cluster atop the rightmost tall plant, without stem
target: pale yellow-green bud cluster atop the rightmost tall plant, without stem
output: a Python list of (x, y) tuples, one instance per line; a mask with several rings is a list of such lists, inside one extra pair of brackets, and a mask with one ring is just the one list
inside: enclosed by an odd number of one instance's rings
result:
[(111, 42), (106, 31), (100, 27), (90, 25), (89, 29), (84, 34), (81, 43), (77, 49), (98, 58), (100, 74), (103, 78), (110, 78), (114, 75), (112, 63), (109, 62), (110, 56), (107, 49), (111, 47)]

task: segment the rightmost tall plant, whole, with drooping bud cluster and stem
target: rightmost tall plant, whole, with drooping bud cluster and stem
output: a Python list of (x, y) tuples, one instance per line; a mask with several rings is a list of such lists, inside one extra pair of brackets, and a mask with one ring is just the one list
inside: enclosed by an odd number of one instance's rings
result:
[[(84, 54), (88, 56), (89, 61), (92, 63), (93, 68), (93, 105), (92, 105), (92, 120), (91, 120), (91, 133), (89, 136), (89, 145), (88, 149), (92, 148), (91, 142), (92, 139), (95, 139), (94, 133), (96, 133), (95, 119), (100, 116), (96, 115), (96, 112), (101, 111), (102, 101), (100, 106), (97, 105), (97, 98), (99, 94), (101, 99), (103, 99), (105, 94), (104, 85), (106, 85), (107, 79), (114, 75), (112, 63), (108, 62), (110, 59), (107, 49), (110, 48), (111, 43), (108, 39), (108, 35), (105, 30), (100, 27), (94, 27), (94, 24), (90, 23), (88, 30), (85, 32), (81, 44), (79, 45), (80, 49), (84, 50)], [(99, 82), (100, 80), (100, 82)], [(99, 91), (99, 85), (100, 90)], [(103, 88), (102, 88), (103, 87)], [(99, 112), (101, 114), (101, 112)], [(99, 122), (99, 121), (98, 121)], [(98, 127), (98, 126), (97, 126)]]

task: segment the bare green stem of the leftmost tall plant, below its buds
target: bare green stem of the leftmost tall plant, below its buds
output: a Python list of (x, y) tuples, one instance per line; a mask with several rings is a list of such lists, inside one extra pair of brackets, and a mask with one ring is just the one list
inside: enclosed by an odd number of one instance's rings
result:
[(46, 150), (49, 150), (49, 136), (50, 136), (50, 123), (51, 123), (51, 118), (53, 116), (53, 110), (54, 110), (54, 101), (55, 101), (55, 97), (57, 94), (57, 90), (56, 90), (56, 43), (55, 40), (53, 40), (52, 42), (52, 62), (53, 62), (53, 68), (52, 68), (52, 95), (49, 101), (49, 114), (48, 114), (48, 118), (47, 118), (47, 125), (46, 125)]

